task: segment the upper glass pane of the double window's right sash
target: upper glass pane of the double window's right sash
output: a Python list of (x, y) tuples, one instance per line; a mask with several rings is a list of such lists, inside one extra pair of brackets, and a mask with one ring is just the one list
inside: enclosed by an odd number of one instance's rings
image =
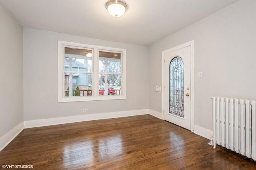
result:
[(121, 73), (121, 53), (99, 51), (99, 72)]

